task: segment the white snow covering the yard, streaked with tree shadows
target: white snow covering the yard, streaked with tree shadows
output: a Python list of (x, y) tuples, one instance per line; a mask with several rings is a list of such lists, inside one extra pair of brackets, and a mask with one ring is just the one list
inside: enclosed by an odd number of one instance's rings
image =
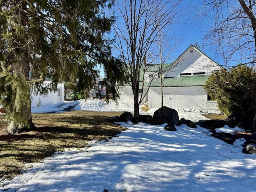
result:
[[(80, 100), (34, 108), (32, 112), (64, 109), (133, 111), (132, 100), (106, 104)], [(156, 109), (141, 114), (153, 114)], [(208, 111), (176, 109), (179, 117), (198, 121)], [(128, 128), (105, 142), (93, 141), (82, 150), (69, 149), (2, 180), (8, 192), (255, 192), (256, 154), (242, 153), (244, 140), (234, 145), (210, 137), (208, 130), (186, 125), (176, 132), (165, 124), (121, 123)], [(232, 129), (225, 127), (225, 132)]]

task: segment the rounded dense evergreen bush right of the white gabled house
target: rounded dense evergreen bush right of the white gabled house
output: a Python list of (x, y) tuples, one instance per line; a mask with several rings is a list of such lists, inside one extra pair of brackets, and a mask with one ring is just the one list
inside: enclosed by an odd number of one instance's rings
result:
[(227, 115), (239, 113), (252, 120), (256, 110), (254, 68), (238, 66), (210, 75), (204, 86), (219, 109)]

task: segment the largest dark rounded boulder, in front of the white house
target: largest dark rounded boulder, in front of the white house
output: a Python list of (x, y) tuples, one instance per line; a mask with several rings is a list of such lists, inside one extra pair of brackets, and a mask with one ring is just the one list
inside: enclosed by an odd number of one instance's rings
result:
[(154, 123), (179, 126), (179, 116), (175, 109), (163, 106), (154, 112)]

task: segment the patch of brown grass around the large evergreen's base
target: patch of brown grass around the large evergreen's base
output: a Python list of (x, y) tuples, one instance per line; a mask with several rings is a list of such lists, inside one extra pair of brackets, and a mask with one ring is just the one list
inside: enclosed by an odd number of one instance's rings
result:
[[(91, 140), (106, 140), (124, 128), (106, 118), (121, 112), (71, 111), (32, 114), (36, 126), (29, 132), (7, 135), (5, 115), (0, 114), (0, 178), (20, 174), (25, 163), (40, 162), (65, 148), (83, 148)], [(94, 125), (88, 128), (89, 125)]]

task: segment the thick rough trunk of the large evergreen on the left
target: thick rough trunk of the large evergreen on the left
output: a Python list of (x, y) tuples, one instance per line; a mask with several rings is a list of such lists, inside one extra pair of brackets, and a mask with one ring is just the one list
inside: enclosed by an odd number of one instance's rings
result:
[[(20, 24), (22, 26), (28, 26), (26, 1), (21, 1), (21, 6), (18, 6), (15, 1), (14, 5), (16, 6), (16, 15), (21, 18)], [(27, 84), (27, 81), (29, 81), (30, 66), (29, 53), (28, 50), (26, 50), (26, 39), (17, 34), (16, 43), (14, 45), (16, 46), (15, 52), (18, 56), (16, 60), (12, 61), (12, 72), (16, 74), (16, 77), (20, 81), (16, 82), (15, 86), (12, 85), (14, 86), (12, 88), (12, 107), (8, 112), (10, 121), (6, 128), (8, 134), (15, 134), (21, 130), (34, 127), (31, 115), (30, 87)]]

